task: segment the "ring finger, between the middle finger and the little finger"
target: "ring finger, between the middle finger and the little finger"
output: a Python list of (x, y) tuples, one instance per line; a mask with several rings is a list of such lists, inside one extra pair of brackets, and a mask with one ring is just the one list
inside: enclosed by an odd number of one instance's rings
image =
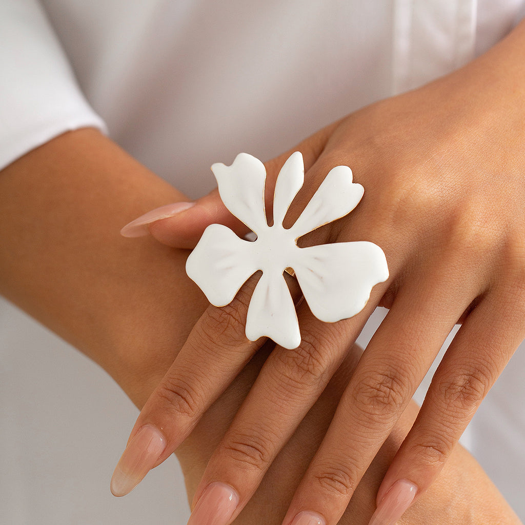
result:
[(292, 500), (286, 525), (295, 525), (305, 516), (324, 525), (335, 525), (341, 518), (361, 477), (470, 302), (461, 302), (469, 290), (463, 287), (459, 295), (461, 280), (450, 282), (445, 266), (428, 271), (426, 277), (411, 276), (417, 287), (398, 292), (341, 398)]

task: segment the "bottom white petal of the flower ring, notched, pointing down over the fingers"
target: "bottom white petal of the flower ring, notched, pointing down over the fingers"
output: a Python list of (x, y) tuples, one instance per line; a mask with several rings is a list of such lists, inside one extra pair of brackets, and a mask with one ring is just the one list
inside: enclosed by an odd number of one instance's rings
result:
[(246, 319), (246, 337), (257, 341), (269, 337), (284, 348), (301, 343), (299, 323), (285, 278), (277, 272), (264, 272), (251, 296)]

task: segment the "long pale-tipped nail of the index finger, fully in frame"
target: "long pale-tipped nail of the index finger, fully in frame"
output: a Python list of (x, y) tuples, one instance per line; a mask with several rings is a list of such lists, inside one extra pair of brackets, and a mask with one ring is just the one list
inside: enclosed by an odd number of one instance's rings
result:
[(166, 448), (166, 439), (152, 425), (144, 425), (124, 450), (111, 478), (113, 496), (131, 492), (155, 465)]

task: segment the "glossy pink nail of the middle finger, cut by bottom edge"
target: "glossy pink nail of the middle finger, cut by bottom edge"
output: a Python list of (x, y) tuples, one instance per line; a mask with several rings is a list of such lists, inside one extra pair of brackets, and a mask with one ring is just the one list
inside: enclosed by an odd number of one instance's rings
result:
[(208, 485), (188, 521), (188, 525), (228, 525), (239, 505), (237, 492), (224, 483)]

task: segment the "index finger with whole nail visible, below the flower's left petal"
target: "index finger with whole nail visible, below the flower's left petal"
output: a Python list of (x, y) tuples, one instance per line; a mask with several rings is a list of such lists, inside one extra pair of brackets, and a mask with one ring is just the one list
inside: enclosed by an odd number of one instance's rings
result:
[(115, 469), (111, 491), (123, 496), (169, 457), (206, 409), (264, 343), (246, 338), (246, 312), (257, 276), (226, 307), (208, 307), (170, 370), (144, 405)]

